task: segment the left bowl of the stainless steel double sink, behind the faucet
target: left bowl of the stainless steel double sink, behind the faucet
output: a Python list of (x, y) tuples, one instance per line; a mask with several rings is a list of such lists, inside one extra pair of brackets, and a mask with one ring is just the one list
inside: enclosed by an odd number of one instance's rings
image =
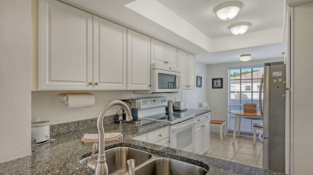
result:
[[(152, 154), (150, 153), (130, 147), (116, 147), (106, 150), (104, 153), (106, 154), (109, 175), (121, 175), (128, 172), (128, 166), (126, 163), (128, 159), (134, 158), (136, 160), (135, 167), (137, 167), (152, 157)], [(89, 157), (80, 160), (79, 163), (87, 166)], [(96, 160), (97, 157), (98, 154), (95, 154), (92, 159)]]

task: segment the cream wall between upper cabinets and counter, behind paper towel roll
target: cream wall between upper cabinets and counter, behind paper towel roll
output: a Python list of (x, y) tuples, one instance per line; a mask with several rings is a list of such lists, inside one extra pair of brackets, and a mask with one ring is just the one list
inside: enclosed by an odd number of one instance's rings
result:
[[(196, 75), (202, 76), (202, 88), (183, 90), (181, 93), (139, 95), (134, 94), (134, 91), (33, 91), (31, 93), (31, 118), (33, 121), (36, 117), (40, 117), (42, 120), (51, 121), (51, 124), (65, 123), (98, 117), (101, 108), (112, 99), (165, 96), (171, 100), (177, 98), (180, 101), (181, 94), (184, 95), (187, 108), (198, 109), (198, 104), (207, 100), (206, 69), (205, 64), (196, 61)], [(88, 108), (67, 109), (67, 105), (57, 99), (60, 93), (91, 93), (95, 96), (95, 104), (93, 107)], [(119, 106), (115, 106), (114, 109), (107, 112), (106, 116), (114, 115), (119, 108)]]

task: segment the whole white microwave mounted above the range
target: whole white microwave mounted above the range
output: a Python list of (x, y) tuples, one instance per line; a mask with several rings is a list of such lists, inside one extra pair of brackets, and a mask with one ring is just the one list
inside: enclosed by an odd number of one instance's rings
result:
[(152, 63), (150, 81), (150, 90), (134, 91), (134, 93), (152, 94), (181, 92), (181, 73), (178, 67)]

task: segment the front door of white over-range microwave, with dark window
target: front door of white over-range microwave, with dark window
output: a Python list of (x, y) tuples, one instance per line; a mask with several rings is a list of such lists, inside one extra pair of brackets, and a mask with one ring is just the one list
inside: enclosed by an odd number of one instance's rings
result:
[(180, 92), (180, 72), (153, 69), (153, 92)]

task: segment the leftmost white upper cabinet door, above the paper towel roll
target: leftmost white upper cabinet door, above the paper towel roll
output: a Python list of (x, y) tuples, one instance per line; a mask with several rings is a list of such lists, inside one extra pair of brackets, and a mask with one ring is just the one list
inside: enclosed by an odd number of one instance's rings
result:
[(39, 90), (91, 89), (92, 15), (39, 0)]

